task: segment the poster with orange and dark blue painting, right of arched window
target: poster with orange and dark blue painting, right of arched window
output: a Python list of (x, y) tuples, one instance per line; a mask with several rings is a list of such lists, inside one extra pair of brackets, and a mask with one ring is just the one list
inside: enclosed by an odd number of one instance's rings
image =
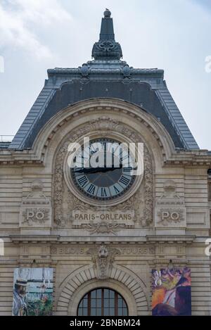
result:
[(191, 315), (191, 269), (152, 270), (152, 315)]

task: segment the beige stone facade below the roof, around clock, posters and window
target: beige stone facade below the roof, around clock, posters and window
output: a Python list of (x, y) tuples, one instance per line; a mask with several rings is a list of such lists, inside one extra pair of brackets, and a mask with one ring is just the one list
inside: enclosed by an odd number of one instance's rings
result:
[[(144, 144), (141, 183), (104, 210), (75, 196), (63, 171), (68, 144), (88, 135)], [(54, 269), (54, 315), (76, 315), (101, 286), (122, 294), (129, 315), (151, 315), (151, 269), (170, 259), (191, 267), (192, 315), (211, 314), (207, 151), (177, 151), (153, 115), (103, 98), (58, 112), (32, 148), (1, 149), (0, 162), (0, 315), (11, 315), (13, 269), (35, 266)], [(80, 221), (78, 211), (132, 217)]]

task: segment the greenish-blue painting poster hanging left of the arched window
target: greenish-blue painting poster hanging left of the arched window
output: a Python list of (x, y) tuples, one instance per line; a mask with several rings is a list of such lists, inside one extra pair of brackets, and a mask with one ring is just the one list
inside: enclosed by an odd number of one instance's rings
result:
[(53, 268), (15, 268), (13, 316), (50, 316), (53, 311)]

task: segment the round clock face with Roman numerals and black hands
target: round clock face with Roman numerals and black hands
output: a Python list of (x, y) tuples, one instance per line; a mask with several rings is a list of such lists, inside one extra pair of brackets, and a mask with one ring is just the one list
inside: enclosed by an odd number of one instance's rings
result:
[(98, 201), (122, 196), (134, 183), (135, 159), (120, 142), (113, 139), (91, 140), (74, 159), (71, 177), (77, 189)]

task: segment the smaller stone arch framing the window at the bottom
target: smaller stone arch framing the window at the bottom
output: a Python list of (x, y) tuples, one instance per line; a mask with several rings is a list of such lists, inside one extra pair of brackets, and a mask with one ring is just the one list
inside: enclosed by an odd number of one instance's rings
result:
[(77, 315), (77, 306), (82, 297), (94, 288), (111, 288), (127, 302), (129, 315), (148, 315), (148, 301), (141, 279), (126, 267), (113, 265), (110, 278), (96, 278), (93, 266), (84, 266), (72, 272), (62, 284), (57, 302), (56, 315)]

